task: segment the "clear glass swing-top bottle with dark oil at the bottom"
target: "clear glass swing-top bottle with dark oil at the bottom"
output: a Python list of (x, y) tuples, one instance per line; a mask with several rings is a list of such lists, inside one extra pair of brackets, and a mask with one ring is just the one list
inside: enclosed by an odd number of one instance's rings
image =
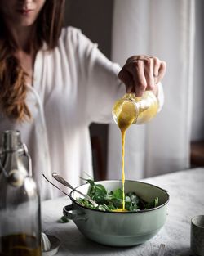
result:
[(0, 256), (40, 256), (40, 199), (20, 132), (2, 134)]

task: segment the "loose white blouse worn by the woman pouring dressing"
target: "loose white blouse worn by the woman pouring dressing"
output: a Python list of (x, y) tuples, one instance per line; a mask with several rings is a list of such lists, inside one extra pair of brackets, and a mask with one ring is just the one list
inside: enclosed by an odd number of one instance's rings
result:
[(38, 52), (27, 94), (33, 119), (18, 124), (1, 116), (0, 132), (20, 130), (42, 200), (63, 195), (42, 173), (51, 181), (51, 173), (60, 173), (73, 186), (82, 183), (86, 173), (93, 176), (89, 125), (113, 122), (113, 103), (125, 93), (119, 70), (73, 27), (62, 29), (53, 51), (44, 46)]

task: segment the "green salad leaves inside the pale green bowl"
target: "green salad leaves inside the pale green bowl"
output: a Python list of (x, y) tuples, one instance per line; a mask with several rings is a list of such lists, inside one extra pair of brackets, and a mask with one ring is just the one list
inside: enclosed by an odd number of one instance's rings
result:
[[(99, 209), (101, 211), (113, 211), (122, 209), (122, 189), (118, 188), (114, 191), (106, 191), (105, 187), (101, 184), (95, 184), (91, 179), (86, 182), (90, 183), (87, 195), (91, 197), (97, 204), (94, 207), (85, 198), (78, 198), (78, 203), (90, 209)], [(140, 211), (142, 209), (151, 209), (157, 207), (158, 198), (156, 197), (153, 202), (145, 202), (135, 192), (128, 192), (125, 194), (125, 209), (127, 211)]]

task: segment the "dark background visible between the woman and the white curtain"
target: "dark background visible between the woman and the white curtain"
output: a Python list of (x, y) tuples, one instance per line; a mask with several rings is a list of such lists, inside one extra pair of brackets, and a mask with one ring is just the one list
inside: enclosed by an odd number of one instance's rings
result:
[[(100, 51), (110, 58), (113, 0), (66, 0), (65, 25), (82, 29)], [(104, 179), (107, 168), (108, 126), (91, 124), (95, 180)]]

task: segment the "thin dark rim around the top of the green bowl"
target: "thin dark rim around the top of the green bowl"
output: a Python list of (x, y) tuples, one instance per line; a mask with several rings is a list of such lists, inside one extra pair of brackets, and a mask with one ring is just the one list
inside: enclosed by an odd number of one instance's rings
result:
[[(96, 184), (97, 183), (101, 183), (101, 182), (122, 182), (122, 180), (103, 180), (103, 181), (97, 181), (95, 182)], [(148, 183), (148, 182), (140, 182), (140, 181), (133, 181), (133, 180), (126, 180), (126, 182), (136, 182), (136, 183), (142, 183), (142, 184), (146, 184), (146, 185), (150, 185), (150, 186), (154, 186), (154, 187), (157, 187), (157, 189), (163, 191), (166, 196), (167, 196), (167, 200), (164, 204), (161, 204), (161, 205), (158, 205), (157, 207), (154, 207), (154, 208), (151, 208), (151, 209), (141, 209), (141, 210), (137, 210), (137, 211), (127, 211), (127, 212), (113, 212), (113, 211), (101, 211), (100, 209), (91, 209), (91, 208), (88, 208), (86, 206), (83, 206), (82, 204), (79, 204), (77, 200), (75, 200), (72, 196), (74, 190), (72, 190), (69, 195), (70, 195), (70, 199), (72, 200), (72, 202), (74, 204), (78, 204), (79, 207), (83, 208), (83, 209), (87, 209), (87, 210), (90, 210), (90, 211), (94, 211), (94, 212), (100, 212), (100, 213), (111, 213), (111, 214), (132, 214), (132, 213), (145, 213), (145, 212), (151, 212), (151, 211), (154, 211), (154, 210), (157, 210), (157, 209), (160, 209), (162, 208), (164, 205), (168, 204), (169, 200), (170, 200), (170, 195), (168, 194), (168, 191), (166, 191), (165, 189), (163, 189), (162, 187), (160, 186), (156, 186), (156, 185), (153, 185), (151, 183)], [(78, 189), (80, 186), (85, 186), (85, 185), (88, 185), (88, 183), (84, 183), (82, 185), (79, 185), (77, 187), (75, 187), (76, 189)]]

